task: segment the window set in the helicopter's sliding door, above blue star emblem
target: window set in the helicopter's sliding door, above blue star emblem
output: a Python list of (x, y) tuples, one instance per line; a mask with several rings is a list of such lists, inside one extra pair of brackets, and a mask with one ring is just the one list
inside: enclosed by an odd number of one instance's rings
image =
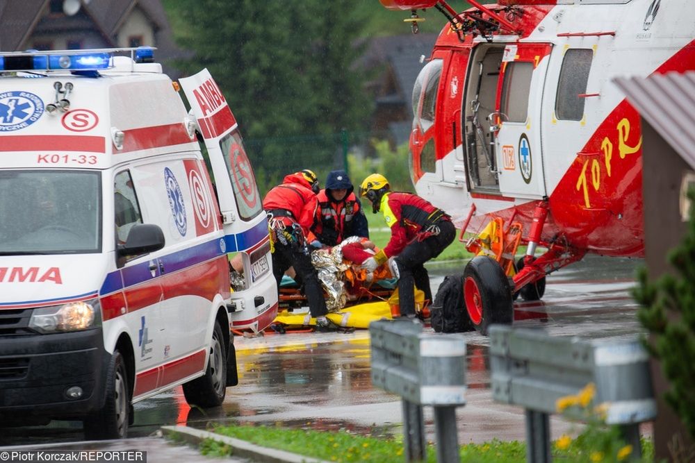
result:
[(528, 114), (528, 95), (531, 89), (533, 63), (507, 62), (505, 81), (502, 83), (500, 112), (503, 122), (525, 122)]

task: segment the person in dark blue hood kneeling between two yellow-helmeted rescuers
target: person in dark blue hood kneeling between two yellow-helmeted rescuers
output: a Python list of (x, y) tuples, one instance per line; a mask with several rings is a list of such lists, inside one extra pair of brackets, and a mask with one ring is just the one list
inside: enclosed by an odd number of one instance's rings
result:
[(367, 218), (347, 172), (331, 171), (325, 189), (316, 197), (318, 210), (312, 231), (318, 242), (312, 242), (312, 246), (336, 246), (351, 236), (369, 237)]

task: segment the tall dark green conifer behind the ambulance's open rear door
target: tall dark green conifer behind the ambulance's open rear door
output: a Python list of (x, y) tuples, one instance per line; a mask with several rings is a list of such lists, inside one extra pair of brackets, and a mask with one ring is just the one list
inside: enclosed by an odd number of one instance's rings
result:
[(354, 69), (363, 23), (350, 2), (167, 1), (179, 18), (172, 22), (187, 28), (179, 43), (195, 53), (174, 64), (211, 71), (263, 173), (261, 190), (291, 171), (332, 165), (341, 128), (368, 119), (363, 73)]

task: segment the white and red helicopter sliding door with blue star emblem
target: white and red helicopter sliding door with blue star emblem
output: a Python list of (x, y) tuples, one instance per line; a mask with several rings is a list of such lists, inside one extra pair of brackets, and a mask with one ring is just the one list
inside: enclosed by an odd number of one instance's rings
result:
[(541, 150), (541, 110), (553, 44), (507, 44), (502, 56), (496, 112), (496, 160), (500, 192), (543, 199), (546, 182)]

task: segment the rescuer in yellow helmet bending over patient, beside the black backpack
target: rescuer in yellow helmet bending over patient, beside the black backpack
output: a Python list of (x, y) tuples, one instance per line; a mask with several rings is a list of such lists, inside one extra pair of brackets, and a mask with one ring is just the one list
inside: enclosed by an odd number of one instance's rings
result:
[(449, 246), (456, 235), (451, 217), (443, 210), (411, 193), (391, 192), (389, 180), (381, 174), (372, 174), (360, 185), (360, 196), (372, 203), (372, 212), (381, 210), (391, 228), (391, 239), (386, 247), (362, 264), (374, 271), (389, 260), (391, 273), (398, 278), (400, 314), (415, 315), (414, 285), (432, 301), (430, 276), (423, 265)]

